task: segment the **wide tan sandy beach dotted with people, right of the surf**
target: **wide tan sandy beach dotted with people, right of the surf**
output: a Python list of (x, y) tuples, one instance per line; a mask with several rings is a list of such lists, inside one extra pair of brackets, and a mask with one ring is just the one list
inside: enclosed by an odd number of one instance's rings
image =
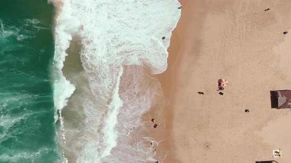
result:
[[(168, 69), (156, 76), (168, 100), (165, 163), (290, 163), (291, 110), (271, 109), (270, 91), (291, 89), (291, 1), (179, 1)], [(223, 96), (218, 79), (229, 81)]]

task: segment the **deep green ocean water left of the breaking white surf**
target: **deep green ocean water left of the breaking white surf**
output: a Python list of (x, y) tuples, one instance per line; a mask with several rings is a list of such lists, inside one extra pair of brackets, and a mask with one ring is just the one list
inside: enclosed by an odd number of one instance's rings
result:
[(54, 163), (53, 5), (0, 3), (0, 163)]

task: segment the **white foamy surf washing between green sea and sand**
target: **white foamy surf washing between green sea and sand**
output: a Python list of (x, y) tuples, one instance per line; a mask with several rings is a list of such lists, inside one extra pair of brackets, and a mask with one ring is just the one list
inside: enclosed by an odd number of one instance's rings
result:
[(141, 117), (154, 105), (160, 90), (147, 72), (159, 74), (167, 68), (167, 48), (180, 18), (180, 3), (54, 3), (60, 8), (55, 28), (54, 101), (63, 162), (154, 161), (151, 147), (144, 144), (155, 141), (143, 134)]

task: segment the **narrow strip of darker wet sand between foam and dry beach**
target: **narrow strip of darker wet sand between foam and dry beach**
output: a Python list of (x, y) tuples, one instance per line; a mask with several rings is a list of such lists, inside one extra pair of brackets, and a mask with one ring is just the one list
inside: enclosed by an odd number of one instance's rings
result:
[[(165, 108), (163, 109), (163, 115), (166, 119), (165, 123), (165, 132), (166, 135), (169, 135), (167, 138), (169, 139), (167, 146), (170, 146), (171, 148), (168, 150), (171, 150), (170, 157), (166, 157), (165, 163), (171, 163), (173, 160), (175, 160), (175, 163), (182, 163), (179, 157), (176, 155), (176, 146), (177, 146), (177, 140), (175, 140), (175, 137), (173, 136), (173, 119), (174, 119), (174, 108), (171, 107), (173, 104), (173, 101), (175, 100), (175, 85), (177, 84), (177, 81), (175, 80), (175, 74), (179, 73), (175, 67), (179, 66), (181, 64), (181, 58), (182, 56), (182, 46), (185, 43), (185, 40), (187, 41), (194, 41), (197, 45), (194, 44), (194, 46), (198, 47), (199, 41), (194, 40), (195, 38), (199, 37), (199, 33), (201, 31), (201, 27), (204, 21), (204, 17), (206, 16), (205, 13), (205, 7), (204, 2), (197, 2), (197, 1), (190, 1), (190, 0), (179, 0), (179, 2), (182, 4), (182, 12), (181, 17), (178, 22), (177, 27), (173, 30), (170, 46), (168, 48), (169, 56), (168, 56), (168, 67), (167, 70), (161, 74), (154, 75), (154, 77), (160, 82), (162, 90), (164, 92), (164, 95), (166, 97), (167, 104)], [(195, 3), (195, 5), (194, 5)], [(189, 5), (190, 4), (190, 5)], [(189, 5), (189, 6), (188, 6)], [(193, 9), (194, 8), (194, 9)], [(192, 10), (193, 9), (193, 10)], [(191, 13), (191, 14), (189, 14)], [(192, 14), (196, 14), (193, 16)], [(202, 14), (202, 15), (199, 15)], [(189, 22), (189, 19), (195, 19), (195, 22)], [(195, 26), (189, 26), (189, 24), (196, 24)], [(194, 27), (194, 29), (191, 31), (191, 35), (194, 36), (193, 38), (189, 38), (191, 40), (187, 39), (187, 36), (189, 33), (186, 32), (185, 28), (187, 27)], [(193, 32), (194, 31), (194, 32)], [(166, 147), (162, 147), (166, 148)], [(167, 148), (166, 148), (167, 149)], [(166, 151), (164, 149), (164, 151)], [(172, 155), (172, 156), (171, 156)]]

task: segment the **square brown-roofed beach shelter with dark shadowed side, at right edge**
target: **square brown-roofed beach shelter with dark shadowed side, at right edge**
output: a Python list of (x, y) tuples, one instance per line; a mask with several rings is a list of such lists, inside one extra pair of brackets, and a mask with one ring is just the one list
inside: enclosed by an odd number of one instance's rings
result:
[(285, 109), (291, 108), (291, 90), (270, 91), (271, 108)]

